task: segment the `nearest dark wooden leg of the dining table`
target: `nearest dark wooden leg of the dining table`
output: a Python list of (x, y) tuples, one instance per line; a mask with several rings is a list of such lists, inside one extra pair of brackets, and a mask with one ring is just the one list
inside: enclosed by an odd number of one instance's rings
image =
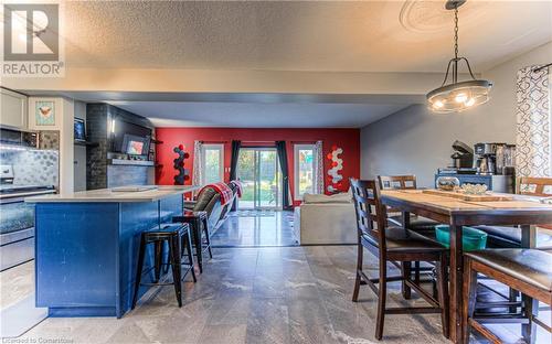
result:
[(461, 331), (463, 321), (463, 233), (461, 226), (450, 225), (450, 340), (454, 343), (463, 343), (464, 334)]

